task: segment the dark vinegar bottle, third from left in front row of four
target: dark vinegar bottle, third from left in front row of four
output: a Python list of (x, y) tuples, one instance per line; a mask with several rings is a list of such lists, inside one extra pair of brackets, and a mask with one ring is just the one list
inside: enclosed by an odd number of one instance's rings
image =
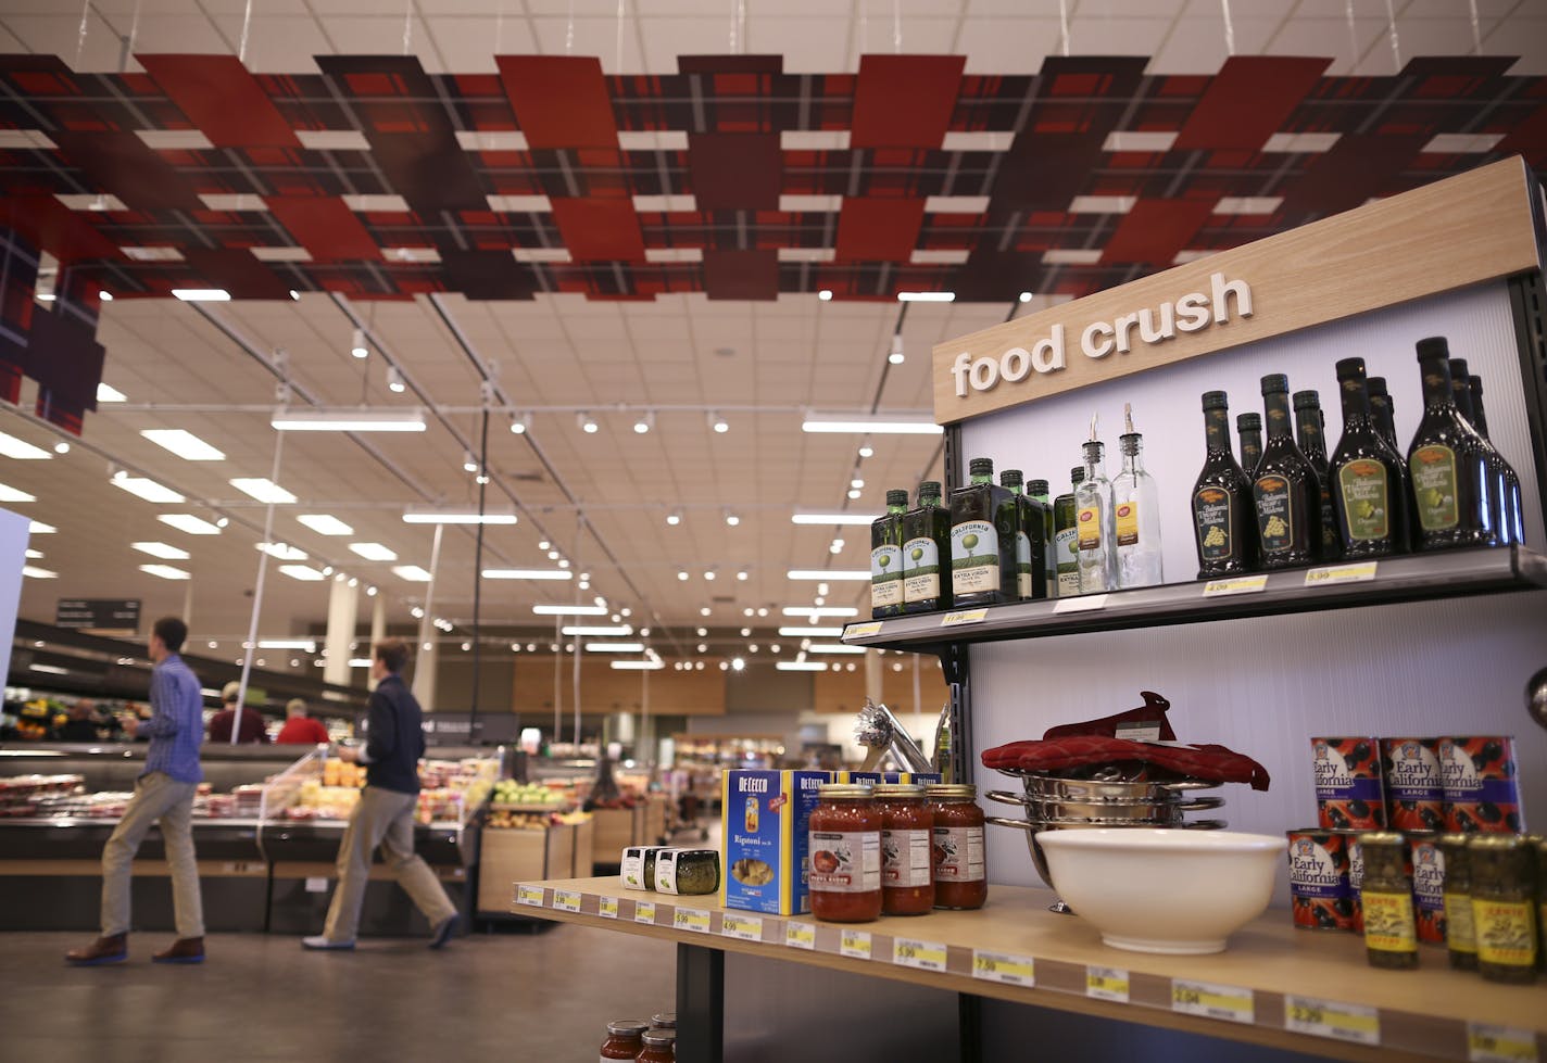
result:
[(1346, 558), (1408, 550), (1408, 465), (1369, 411), (1364, 358), (1337, 363), (1343, 437), (1332, 451), (1332, 508)]

